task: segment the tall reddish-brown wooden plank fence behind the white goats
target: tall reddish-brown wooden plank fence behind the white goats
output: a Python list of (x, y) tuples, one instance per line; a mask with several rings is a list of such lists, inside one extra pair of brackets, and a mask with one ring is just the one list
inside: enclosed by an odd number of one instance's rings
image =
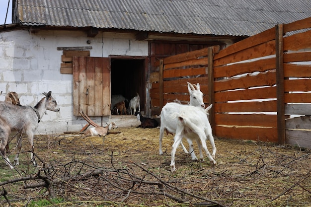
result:
[[(189, 101), (199, 82), (213, 134), (223, 138), (311, 146), (311, 18), (274, 28), (224, 50), (210, 47), (160, 61), (152, 74), (152, 111)], [(302, 62), (302, 63), (300, 63)], [(309, 63), (308, 63), (309, 62)], [(158, 109), (158, 110), (156, 110)]]

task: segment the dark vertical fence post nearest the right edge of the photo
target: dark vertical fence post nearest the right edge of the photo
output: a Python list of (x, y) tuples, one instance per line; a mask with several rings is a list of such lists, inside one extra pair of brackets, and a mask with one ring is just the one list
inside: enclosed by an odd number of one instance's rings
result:
[(277, 90), (277, 131), (278, 143), (285, 142), (285, 100), (283, 64), (283, 24), (275, 26), (276, 90)]

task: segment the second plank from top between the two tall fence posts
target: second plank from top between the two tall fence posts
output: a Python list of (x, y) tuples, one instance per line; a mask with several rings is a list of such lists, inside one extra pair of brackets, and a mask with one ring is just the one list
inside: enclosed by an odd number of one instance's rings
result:
[[(270, 55), (275, 55), (275, 40), (265, 42), (265, 43), (256, 45), (251, 48), (247, 48), (239, 52), (235, 52), (232, 55), (226, 56), (221, 59), (216, 60), (214, 58), (214, 67), (223, 66), (223, 65), (231, 64), (231, 63), (237, 63), (237, 62), (245, 61), (245, 60), (251, 60), (255, 58), (261, 58), (261, 57), (270, 56)], [(216, 56), (217, 55), (215, 55), (214, 57)]]

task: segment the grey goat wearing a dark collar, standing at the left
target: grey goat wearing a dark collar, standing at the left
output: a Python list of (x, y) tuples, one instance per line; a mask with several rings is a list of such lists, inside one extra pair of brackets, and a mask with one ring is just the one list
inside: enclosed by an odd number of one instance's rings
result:
[[(44, 115), (46, 110), (59, 112), (60, 108), (57, 105), (56, 100), (52, 97), (51, 91), (49, 91), (46, 97), (42, 98), (35, 107), (31, 106), (17, 106), (5, 102), (0, 102), (0, 153), (5, 159), (6, 164), (12, 169), (13, 166), (6, 156), (5, 146), (8, 143), (8, 136), (11, 130), (17, 132), (24, 132), (27, 135), (28, 143), (31, 150), (31, 162), (34, 166), (37, 166), (35, 157), (33, 154), (33, 136), (38, 127), (38, 124)], [(17, 138), (17, 153), (14, 158), (14, 165), (19, 165), (18, 154), (21, 148), (21, 138)]]

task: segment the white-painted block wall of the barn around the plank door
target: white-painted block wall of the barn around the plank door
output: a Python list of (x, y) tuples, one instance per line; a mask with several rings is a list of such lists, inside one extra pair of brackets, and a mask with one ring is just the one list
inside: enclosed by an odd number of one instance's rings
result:
[[(91, 43), (87, 44), (86, 41)], [(91, 46), (91, 57), (148, 56), (148, 41), (136, 41), (131, 34), (99, 33), (94, 38), (85, 32), (47, 31), (29, 34), (27, 30), (0, 33), (0, 101), (9, 91), (18, 93), (22, 105), (35, 106), (43, 98), (43, 91), (52, 91), (61, 111), (48, 111), (37, 134), (59, 134), (79, 131), (86, 124), (73, 115), (73, 75), (61, 74), (63, 51), (57, 47)], [(91, 117), (96, 123), (109, 122), (108, 117)], [(131, 121), (131, 120), (130, 120)], [(133, 119), (133, 125), (140, 124)], [(122, 127), (119, 125), (119, 127)]]

